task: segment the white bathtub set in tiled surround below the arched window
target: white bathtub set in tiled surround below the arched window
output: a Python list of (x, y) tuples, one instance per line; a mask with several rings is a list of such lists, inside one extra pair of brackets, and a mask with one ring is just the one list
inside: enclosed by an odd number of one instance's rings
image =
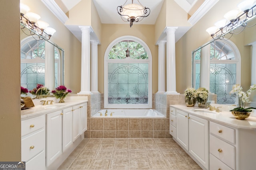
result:
[[(155, 109), (107, 109), (108, 115), (105, 116), (106, 109), (102, 109), (92, 115), (92, 117), (165, 117)], [(102, 116), (100, 116), (102, 113)], [(112, 116), (110, 114), (112, 113)]]

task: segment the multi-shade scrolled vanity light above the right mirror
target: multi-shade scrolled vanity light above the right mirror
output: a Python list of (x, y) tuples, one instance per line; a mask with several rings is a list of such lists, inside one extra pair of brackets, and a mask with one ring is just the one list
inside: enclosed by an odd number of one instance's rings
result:
[[(248, 21), (256, 17), (256, 0), (244, 0), (237, 5), (238, 9), (231, 10), (224, 15), (222, 20), (217, 21), (213, 27), (209, 27), (206, 31), (210, 34), (212, 39), (224, 39), (226, 34), (241, 33), (245, 27), (253, 27), (256, 25), (247, 25)], [(236, 28), (240, 27), (240, 29)], [(230, 39), (228, 37), (227, 39)], [(226, 40), (226, 39), (224, 39)]]

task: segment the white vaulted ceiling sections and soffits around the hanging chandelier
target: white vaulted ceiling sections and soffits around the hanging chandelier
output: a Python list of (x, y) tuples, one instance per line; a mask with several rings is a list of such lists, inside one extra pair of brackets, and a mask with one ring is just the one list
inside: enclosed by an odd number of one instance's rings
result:
[[(54, 3), (50, 3), (50, 2)], [(57, 18), (65, 23), (68, 19), (66, 13), (74, 6), (79, 4), (81, 0), (42, 0), (44, 4), (55, 14)], [(92, 0), (96, 10), (99, 14), (102, 23), (108, 24), (127, 24), (124, 22), (117, 12), (118, 6), (130, 4), (132, 0)], [(178, 41), (204, 14), (216, 3), (218, 0), (174, 0), (184, 11), (191, 17), (188, 20), (191, 26), (178, 27), (175, 31), (175, 41)], [(164, 0), (139, 0), (139, 2), (146, 8), (150, 8), (150, 15), (136, 24), (150, 24), (154, 25), (160, 13)], [(134, 0), (138, 4), (138, 0)], [(53, 8), (57, 5), (58, 8)], [(54, 10), (56, 9), (56, 10)], [(198, 10), (200, 9), (200, 10)], [(56, 12), (57, 11), (57, 12)], [(60, 15), (61, 14), (61, 15)], [(60, 17), (61, 16), (61, 17)], [(81, 30), (78, 25), (66, 25), (66, 27), (82, 41)], [(91, 33), (91, 39), (98, 39), (95, 33)], [(162, 33), (158, 40), (166, 39), (166, 33)], [(99, 42), (100, 43), (100, 42)]]

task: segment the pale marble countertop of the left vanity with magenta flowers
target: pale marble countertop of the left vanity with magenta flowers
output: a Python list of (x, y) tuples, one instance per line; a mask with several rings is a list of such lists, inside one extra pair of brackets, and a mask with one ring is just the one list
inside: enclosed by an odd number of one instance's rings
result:
[[(42, 105), (40, 102), (41, 100), (53, 100), (52, 105)], [(68, 107), (73, 107), (79, 104), (83, 104), (88, 102), (88, 97), (87, 96), (70, 96), (66, 97), (64, 103), (58, 103), (56, 98), (42, 98), (40, 100), (35, 99), (33, 100), (33, 103), (35, 107), (31, 107), (29, 109), (24, 109), (21, 110), (21, 120), (26, 120), (30, 119), (32, 117), (37, 117), (40, 115), (52, 113), (54, 111), (58, 111), (61, 109), (66, 109)]]

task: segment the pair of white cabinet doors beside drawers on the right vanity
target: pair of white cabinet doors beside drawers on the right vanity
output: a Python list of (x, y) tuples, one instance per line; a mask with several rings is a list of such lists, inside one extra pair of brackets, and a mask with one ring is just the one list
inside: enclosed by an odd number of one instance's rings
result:
[(176, 139), (196, 162), (209, 166), (208, 121), (176, 109)]

